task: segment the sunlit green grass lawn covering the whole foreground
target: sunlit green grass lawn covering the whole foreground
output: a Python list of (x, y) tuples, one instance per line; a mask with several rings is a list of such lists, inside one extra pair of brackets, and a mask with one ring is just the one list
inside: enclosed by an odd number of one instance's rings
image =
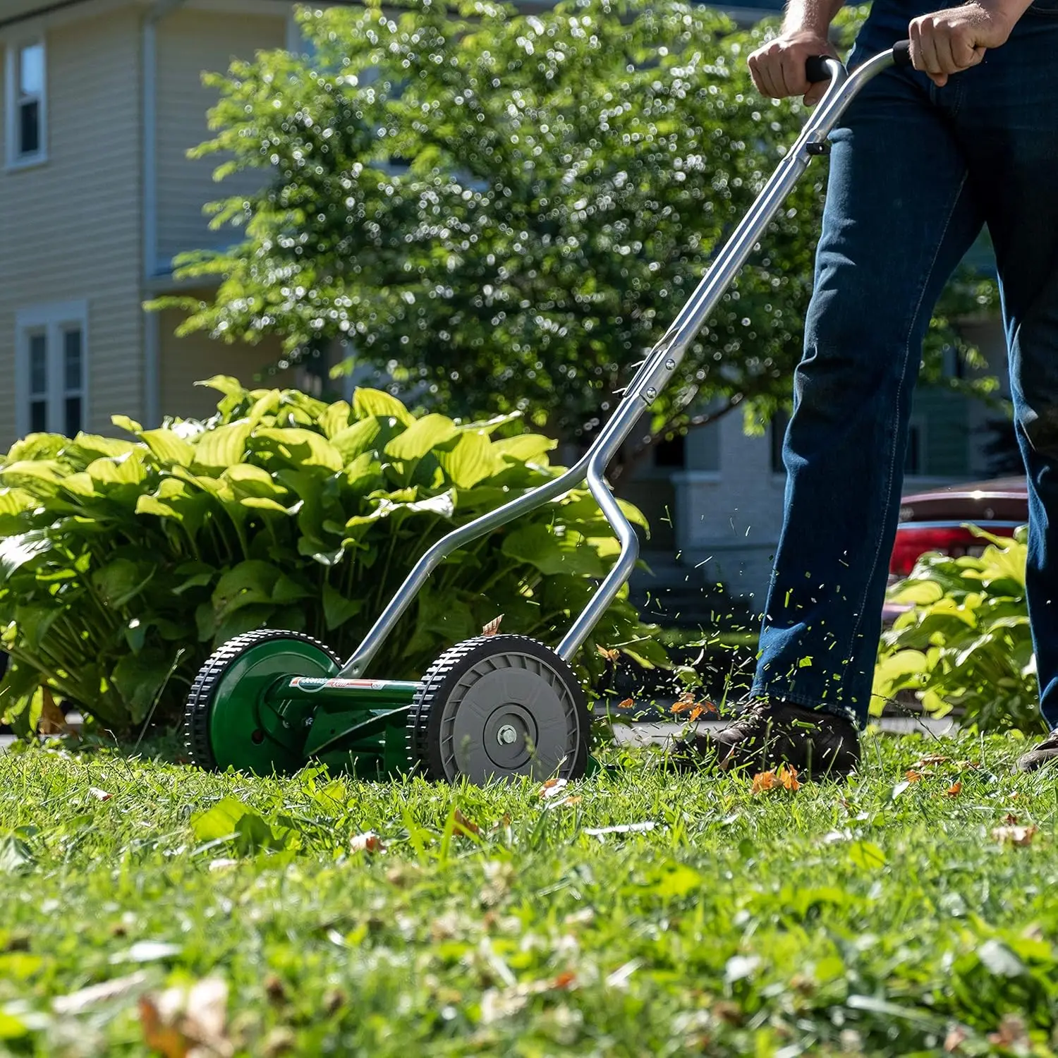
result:
[(1058, 776), (1023, 746), (548, 798), (6, 753), (0, 1052), (1050, 1055)]

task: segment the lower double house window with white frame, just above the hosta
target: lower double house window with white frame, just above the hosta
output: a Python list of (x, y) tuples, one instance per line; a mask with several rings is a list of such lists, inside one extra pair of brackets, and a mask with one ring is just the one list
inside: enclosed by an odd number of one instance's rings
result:
[(84, 302), (16, 315), (16, 425), (24, 434), (73, 437), (87, 414), (88, 309)]

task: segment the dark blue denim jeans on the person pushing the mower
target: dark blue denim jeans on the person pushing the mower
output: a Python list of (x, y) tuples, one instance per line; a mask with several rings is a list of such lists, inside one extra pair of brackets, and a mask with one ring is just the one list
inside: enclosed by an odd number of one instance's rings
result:
[[(941, 6), (875, 0), (850, 65)], [(987, 225), (1028, 472), (1041, 708), (1058, 726), (1058, 0), (1040, 0), (1006, 44), (944, 88), (887, 70), (831, 141), (783, 448), (785, 515), (750, 697), (865, 723), (922, 343), (942, 289)]]

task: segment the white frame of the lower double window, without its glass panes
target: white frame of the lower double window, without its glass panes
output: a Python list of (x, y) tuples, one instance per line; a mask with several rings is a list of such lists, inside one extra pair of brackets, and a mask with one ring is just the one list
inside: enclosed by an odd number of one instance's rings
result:
[[(66, 385), (63, 334), (80, 330), (80, 388)], [(15, 428), (19, 437), (30, 433), (30, 340), (43, 332), (48, 357), (47, 421), (48, 433), (66, 433), (66, 401), (80, 398), (80, 428), (89, 417), (89, 333), (88, 302), (53, 302), (21, 309), (15, 313)]]

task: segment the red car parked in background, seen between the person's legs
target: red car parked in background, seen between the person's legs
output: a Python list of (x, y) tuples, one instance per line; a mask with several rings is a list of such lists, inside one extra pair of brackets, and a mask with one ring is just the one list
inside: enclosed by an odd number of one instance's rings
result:
[[(942, 551), (956, 558), (980, 554), (985, 543), (964, 528), (966, 523), (997, 536), (1011, 536), (1027, 521), (1028, 489), (1023, 476), (910, 493), (900, 500), (900, 522), (889, 562), (890, 582), (907, 577), (926, 551)], [(887, 603), (887, 623), (904, 608)]]

